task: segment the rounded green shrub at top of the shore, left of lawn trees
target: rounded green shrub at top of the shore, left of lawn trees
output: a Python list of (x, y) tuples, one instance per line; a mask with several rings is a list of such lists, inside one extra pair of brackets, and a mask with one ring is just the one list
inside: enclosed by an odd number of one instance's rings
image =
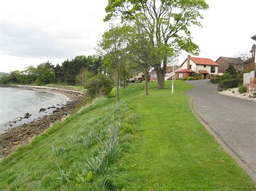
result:
[(98, 74), (91, 77), (86, 83), (84, 88), (87, 89), (87, 93), (92, 97), (109, 95), (113, 88), (113, 80), (104, 74)]

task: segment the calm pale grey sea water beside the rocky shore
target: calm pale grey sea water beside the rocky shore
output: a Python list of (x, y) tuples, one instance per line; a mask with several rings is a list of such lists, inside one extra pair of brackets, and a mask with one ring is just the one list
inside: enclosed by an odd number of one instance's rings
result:
[[(38, 117), (49, 115), (55, 110), (47, 109), (44, 112), (39, 112), (40, 108), (61, 107), (69, 101), (71, 100), (68, 97), (61, 94), (41, 90), (0, 87), (0, 133)], [(29, 112), (31, 116), (28, 119), (23, 118), (18, 121), (18, 118), (24, 117), (26, 112)], [(14, 123), (14, 121), (17, 122)]]

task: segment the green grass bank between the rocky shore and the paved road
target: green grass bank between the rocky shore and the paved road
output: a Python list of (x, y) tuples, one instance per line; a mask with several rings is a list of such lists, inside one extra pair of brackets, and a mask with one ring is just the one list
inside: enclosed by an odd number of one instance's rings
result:
[[(170, 82), (166, 87), (157, 90), (157, 83), (150, 82), (145, 96), (144, 84), (134, 84), (120, 91), (124, 102), (119, 105), (113, 91), (110, 98), (53, 125), (0, 162), (0, 189), (255, 190), (193, 116), (190, 99), (183, 95), (192, 86), (176, 81), (173, 95)], [(102, 145), (113, 127), (122, 150), (93, 170), (88, 164), (96, 158), (91, 156), (106, 153)], [(89, 135), (94, 135), (90, 142), (80, 142)]]

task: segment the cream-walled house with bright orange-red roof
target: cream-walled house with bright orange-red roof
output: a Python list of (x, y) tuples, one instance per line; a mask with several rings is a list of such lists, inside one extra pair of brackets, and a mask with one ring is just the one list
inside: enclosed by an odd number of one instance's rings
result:
[(209, 79), (212, 75), (218, 74), (218, 63), (209, 58), (197, 58), (190, 55), (181, 64), (180, 70), (175, 72), (175, 79), (182, 79), (199, 73), (203, 79)]

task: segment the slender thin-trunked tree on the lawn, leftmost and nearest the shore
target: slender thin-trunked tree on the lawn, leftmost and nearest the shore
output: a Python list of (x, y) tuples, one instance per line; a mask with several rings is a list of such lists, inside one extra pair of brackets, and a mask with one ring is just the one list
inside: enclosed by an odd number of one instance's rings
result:
[(119, 102), (120, 70), (125, 65), (129, 52), (127, 49), (129, 26), (110, 26), (99, 41), (98, 52), (105, 57), (107, 67), (116, 69), (117, 102)]

